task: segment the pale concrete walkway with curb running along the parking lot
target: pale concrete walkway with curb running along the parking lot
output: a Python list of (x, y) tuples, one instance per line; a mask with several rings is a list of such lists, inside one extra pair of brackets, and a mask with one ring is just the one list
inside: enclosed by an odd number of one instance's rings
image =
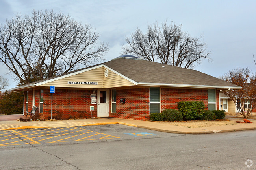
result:
[[(1, 117), (1, 116), (0, 116)], [(226, 117), (226, 119), (234, 121), (243, 121), (239, 118)], [(242, 123), (234, 125), (210, 126), (200, 128), (188, 128), (184, 126), (175, 126), (161, 122), (138, 121), (131, 119), (119, 118), (98, 118), (98, 119), (80, 119), (80, 120), (61, 120), (61, 121), (31, 121), (20, 122), (17, 120), (0, 121), (0, 130), (10, 129), (26, 129), (26, 128), (49, 128), (49, 127), (72, 127), (72, 126), (93, 126), (103, 124), (124, 124), (138, 128), (145, 128), (150, 130), (157, 130), (169, 133), (183, 133), (183, 134), (206, 134), (206, 133), (220, 133), (232, 132), (239, 130), (253, 130), (256, 129), (256, 120), (249, 119), (253, 123)]]

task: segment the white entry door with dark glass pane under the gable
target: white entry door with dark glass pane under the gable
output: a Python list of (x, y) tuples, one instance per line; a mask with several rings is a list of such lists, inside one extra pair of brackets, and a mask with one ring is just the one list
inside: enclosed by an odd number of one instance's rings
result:
[(97, 116), (109, 116), (109, 89), (98, 89), (97, 97)]

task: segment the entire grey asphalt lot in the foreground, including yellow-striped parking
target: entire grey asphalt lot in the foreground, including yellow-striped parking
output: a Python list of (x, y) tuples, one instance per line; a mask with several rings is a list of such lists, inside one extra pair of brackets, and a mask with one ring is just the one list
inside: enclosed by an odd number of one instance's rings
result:
[(245, 145), (255, 144), (255, 130), (186, 135), (107, 124), (0, 132), (9, 139), (0, 143), (1, 170), (243, 170), (256, 161)]

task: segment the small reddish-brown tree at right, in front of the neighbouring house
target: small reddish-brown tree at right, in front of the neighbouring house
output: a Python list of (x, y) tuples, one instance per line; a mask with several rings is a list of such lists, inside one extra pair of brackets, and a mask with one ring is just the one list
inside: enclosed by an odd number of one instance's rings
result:
[(223, 79), (242, 87), (223, 93), (236, 104), (238, 113), (248, 118), (252, 108), (256, 107), (256, 74), (251, 73), (249, 68), (236, 68), (226, 73)]

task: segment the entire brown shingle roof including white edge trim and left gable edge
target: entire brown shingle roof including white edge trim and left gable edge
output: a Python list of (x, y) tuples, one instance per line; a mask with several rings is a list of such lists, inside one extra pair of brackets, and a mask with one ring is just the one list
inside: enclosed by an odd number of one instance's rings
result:
[(39, 80), (16, 89), (36, 86), (36, 84), (44, 84), (46, 81), (54, 81), (69, 74), (76, 74), (88, 68), (93, 69), (96, 66), (107, 66), (108, 68), (116, 71), (119, 75), (127, 77), (137, 85), (151, 85), (151, 86), (172, 86), (172, 87), (198, 87), (198, 88), (241, 88), (235, 84), (226, 82), (216, 77), (204, 74), (200, 71), (185, 69), (176, 66), (164, 65), (161, 63), (150, 62), (145, 60), (118, 58), (95, 66), (71, 71), (63, 75), (50, 77), (45, 80)]

